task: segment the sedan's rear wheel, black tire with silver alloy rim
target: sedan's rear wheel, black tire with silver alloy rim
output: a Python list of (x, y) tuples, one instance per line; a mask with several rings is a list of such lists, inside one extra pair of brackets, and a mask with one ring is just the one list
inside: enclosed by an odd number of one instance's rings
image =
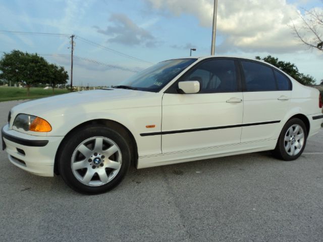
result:
[(304, 122), (299, 118), (292, 118), (283, 127), (273, 155), (286, 161), (295, 160), (303, 153), (306, 140)]

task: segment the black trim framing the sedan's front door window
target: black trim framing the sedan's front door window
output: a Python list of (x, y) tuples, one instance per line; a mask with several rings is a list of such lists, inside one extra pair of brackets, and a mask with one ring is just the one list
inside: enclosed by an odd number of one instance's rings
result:
[[(178, 83), (186, 77), (186, 75), (193, 71), (194, 69), (196, 69), (199, 65), (207, 62), (207, 61), (213, 61), (213, 60), (229, 60), (229, 61), (233, 61), (234, 62), (234, 66), (236, 69), (236, 83), (237, 83), (237, 90), (233, 91), (233, 92), (204, 92), (204, 93), (192, 93), (192, 94), (216, 94), (216, 93), (236, 93), (236, 92), (242, 92), (242, 80), (241, 80), (241, 70), (239, 68), (239, 59), (238, 58), (234, 58), (234, 57), (210, 57), (210, 58), (205, 58), (202, 59), (202, 61), (195, 63), (194, 66), (192, 66), (191, 68), (189, 68), (185, 73), (183, 73), (169, 88), (167, 88), (167, 90), (164, 93), (168, 93), (168, 94), (181, 94), (177, 91), (176, 86), (178, 85)], [(176, 91), (175, 91), (176, 90)], [(190, 94), (190, 95), (192, 95)]]

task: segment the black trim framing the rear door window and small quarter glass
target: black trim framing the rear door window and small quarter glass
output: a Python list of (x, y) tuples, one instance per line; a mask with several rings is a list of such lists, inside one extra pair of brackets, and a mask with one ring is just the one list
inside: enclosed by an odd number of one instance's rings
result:
[[(271, 65), (268, 65), (266, 63), (262, 63), (262, 62), (259, 62), (259, 61), (254, 61), (253, 59), (239, 58), (238, 61), (239, 61), (239, 67), (240, 67), (240, 73), (241, 73), (242, 92), (277, 92), (277, 91), (292, 91), (293, 90), (292, 81), (279, 68), (273, 67)], [(273, 72), (273, 75), (274, 75), (274, 78), (275, 78), (275, 83), (276, 83), (277, 90), (255, 90), (255, 91), (248, 91), (247, 90), (247, 85), (246, 85), (246, 79), (245, 79), (245, 75), (244, 75), (244, 70), (243, 70), (243, 66), (242, 66), (242, 62), (243, 61), (244, 62), (253, 62), (253, 63), (256, 63), (258, 65), (263, 65), (265, 67), (271, 68), (272, 69), (272, 72)], [(279, 72), (280, 74), (282, 74), (283, 76), (285, 76), (287, 78), (287, 80), (289, 81), (289, 89), (288, 90), (279, 90), (279, 88), (278, 88), (278, 82), (277, 82), (277, 77), (276, 77), (275, 71)]]

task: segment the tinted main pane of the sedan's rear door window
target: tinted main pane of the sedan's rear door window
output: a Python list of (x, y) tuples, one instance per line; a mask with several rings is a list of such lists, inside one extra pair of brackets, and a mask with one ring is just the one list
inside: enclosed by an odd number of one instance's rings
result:
[(241, 62), (247, 91), (277, 90), (273, 69), (254, 62)]

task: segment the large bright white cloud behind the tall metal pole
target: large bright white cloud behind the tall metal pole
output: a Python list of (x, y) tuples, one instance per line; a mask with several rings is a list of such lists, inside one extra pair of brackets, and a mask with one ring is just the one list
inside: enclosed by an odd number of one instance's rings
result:
[[(211, 27), (213, 0), (145, 0), (151, 8), (174, 16), (193, 15), (199, 25)], [(224, 37), (218, 52), (263, 51), (293, 52), (300, 50), (290, 28), (299, 23), (300, 11), (286, 0), (226, 0), (218, 3), (217, 34)]]

